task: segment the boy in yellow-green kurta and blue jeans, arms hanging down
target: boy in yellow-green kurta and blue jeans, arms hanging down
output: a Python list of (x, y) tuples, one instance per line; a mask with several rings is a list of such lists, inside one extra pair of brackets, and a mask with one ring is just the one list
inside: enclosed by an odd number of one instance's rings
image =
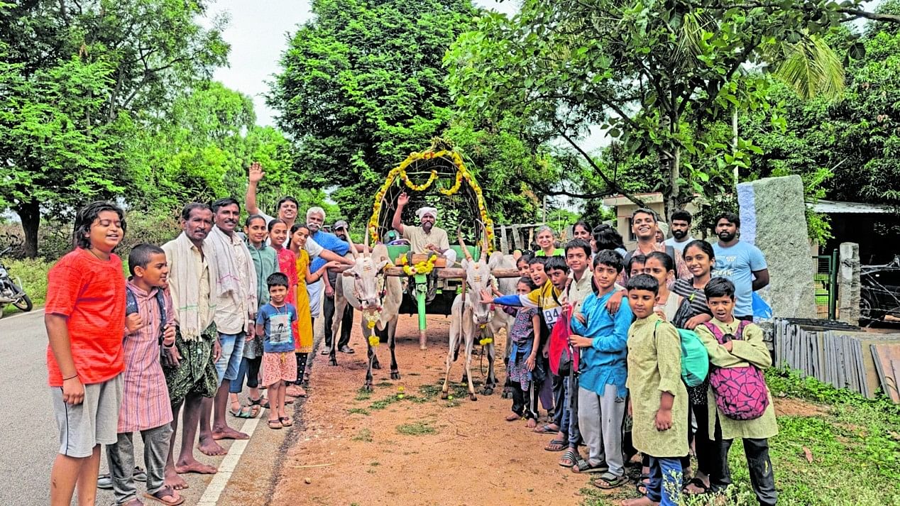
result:
[(678, 330), (653, 312), (659, 283), (641, 274), (628, 279), (628, 304), (637, 320), (628, 330), (628, 380), (635, 448), (650, 456), (647, 495), (623, 506), (678, 504), (681, 456), (688, 455), (688, 390), (681, 381)]

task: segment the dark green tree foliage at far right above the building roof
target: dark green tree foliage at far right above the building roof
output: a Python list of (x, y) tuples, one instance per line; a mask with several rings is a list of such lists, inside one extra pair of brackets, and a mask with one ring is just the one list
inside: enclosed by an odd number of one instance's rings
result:
[[(878, 12), (900, 14), (900, 2)], [(754, 176), (824, 175), (830, 198), (900, 205), (900, 27), (869, 23), (860, 41), (866, 58), (849, 62), (839, 99), (807, 101), (777, 86), (772, 99), (784, 128), (773, 128), (770, 114), (742, 118), (741, 129), (765, 151)]]

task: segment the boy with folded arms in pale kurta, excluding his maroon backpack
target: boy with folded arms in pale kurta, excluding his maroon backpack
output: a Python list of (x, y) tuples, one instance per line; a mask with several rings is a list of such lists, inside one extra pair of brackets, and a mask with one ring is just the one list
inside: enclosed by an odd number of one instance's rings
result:
[[(765, 369), (772, 365), (769, 349), (762, 341), (762, 330), (756, 325), (745, 324), (739, 332), (741, 321), (734, 318), (734, 284), (724, 277), (714, 277), (704, 289), (707, 304), (713, 312), (713, 320), (706, 325), (698, 325), (697, 334), (709, 353), (709, 361), (716, 367), (757, 366)], [(720, 344), (707, 328), (715, 325), (727, 339)], [(764, 506), (774, 505), (778, 499), (775, 491), (775, 474), (769, 458), (769, 440), (779, 433), (775, 421), (775, 407), (771, 393), (766, 388), (769, 405), (760, 418), (754, 420), (732, 420), (716, 408), (709, 410), (709, 438), (716, 441), (717, 459), (709, 474), (712, 492), (721, 492), (731, 481), (728, 468), (728, 450), (734, 438), (743, 439), (743, 453), (750, 468), (750, 482), (756, 498)], [(716, 406), (716, 393), (712, 387), (707, 392), (709, 406)]]

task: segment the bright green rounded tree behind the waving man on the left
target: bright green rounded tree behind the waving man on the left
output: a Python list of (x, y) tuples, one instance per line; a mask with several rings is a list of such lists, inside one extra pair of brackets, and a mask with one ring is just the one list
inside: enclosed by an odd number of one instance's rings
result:
[(259, 205), (271, 209), (285, 194), (302, 205), (318, 203), (322, 191), (304, 188), (293, 172), (293, 149), (284, 135), (256, 124), (249, 96), (211, 82), (175, 99), (162, 121), (141, 131), (132, 149), (132, 205), (170, 212), (185, 202), (223, 196), (243, 200), (247, 167), (266, 169)]

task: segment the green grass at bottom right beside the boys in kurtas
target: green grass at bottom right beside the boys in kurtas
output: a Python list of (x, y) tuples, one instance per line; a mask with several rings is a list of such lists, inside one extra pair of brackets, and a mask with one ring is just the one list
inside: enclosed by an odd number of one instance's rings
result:
[[(900, 505), (900, 406), (883, 396), (869, 400), (801, 378), (797, 372), (770, 370), (766, 381), (775, 398), (815, 403), (809, 416), (779, 416), (779, 435), (769, 440), (779, 505)], [(734, 486), (725, 501), (692, 498), (682, 504), (756, 504), (740, 442), (732, 445), (728, 462)], [(635, 496), (633, 487), (604, 495), (588, 486), (582, 493), (584, 506), (612, 505)]]

